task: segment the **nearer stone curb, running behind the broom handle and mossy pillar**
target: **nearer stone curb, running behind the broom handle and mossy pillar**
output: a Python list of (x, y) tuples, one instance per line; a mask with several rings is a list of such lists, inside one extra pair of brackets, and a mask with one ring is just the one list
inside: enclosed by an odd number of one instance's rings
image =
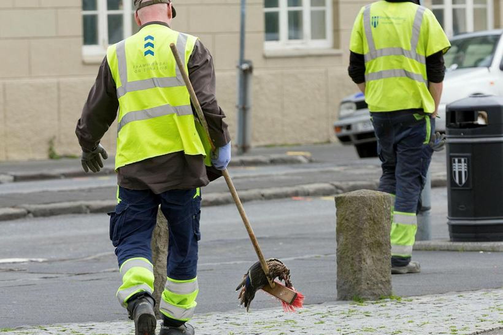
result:
[[(433, 182), (432, 182), (433, 184)], [(447, 184), (446, 180), (439, 178), (435, 185), (438, 187)], [(239, 191), (241, 202), (273, 200), (291, 197), (323, 197), (335, 196), (341, 193), (356, 190), (377, 190), (379, 181), (355, 181), (313, 183), (288, 187), (273, 187), (266, 189), (249, 189)], [(433, 185), (432, 185), (433, 187)], [(202, 199), (202, 206), (220, 206), (232, 204), (229, 192), (206, 193)], [(73, 201), (40, 205), (20, 205), (16, 207), (0, 208), (0, 221), (21, 219), (24, 217), (44, 217), (63, 214), (89, 214), (106, 213), (113, 211), (117, 205), (116, 200)]]

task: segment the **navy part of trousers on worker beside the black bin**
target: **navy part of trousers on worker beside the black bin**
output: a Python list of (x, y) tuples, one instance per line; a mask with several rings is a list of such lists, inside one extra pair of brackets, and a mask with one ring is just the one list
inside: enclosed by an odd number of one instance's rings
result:
[(432, 159), (429, 137), (435, 132), (435, 120), (427, 122), (429, 115), (413, 111), (371, 116), (382, 162), (379, 191), (396, 195), (395, 211), (415, 213)]

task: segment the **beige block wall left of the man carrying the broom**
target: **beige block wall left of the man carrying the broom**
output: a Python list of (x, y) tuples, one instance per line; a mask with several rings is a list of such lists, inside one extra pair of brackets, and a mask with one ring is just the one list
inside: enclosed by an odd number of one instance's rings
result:
[(98, 65), (82, 61), (81, 0), (0, 1), (0, 160), (77, 154)]

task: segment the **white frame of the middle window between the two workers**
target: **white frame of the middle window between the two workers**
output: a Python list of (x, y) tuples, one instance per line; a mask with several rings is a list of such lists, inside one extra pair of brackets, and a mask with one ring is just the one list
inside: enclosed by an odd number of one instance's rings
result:
[[(288, 7), (288, 0), (278, 0), (279, 7), (264, 8), (264, 13), (279, 12), (279, 41), (264, 41), (266, 50), (284, 49), (329, 49), (333, 47), (332, 29), (332, 0), (325, 0), (324, 7), (311, 6), (311, 0), (302, 0), (300, 7)], [(279, 9), (279, 10), (278, 10)], [(301, 40), (288, 39), (288, 11), (302, 10), (302, 36)], [(311, 10), (323, 9), (325, 11), (325, 39), (311, 39)], [(265, 20), (265, 19), (264, 19)], [(264, 32), (265, 36), (265, 32)]]

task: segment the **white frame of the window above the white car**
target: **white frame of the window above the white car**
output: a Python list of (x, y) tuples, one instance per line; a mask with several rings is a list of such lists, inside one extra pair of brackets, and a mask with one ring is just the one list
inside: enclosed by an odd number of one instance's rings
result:
[(494, 14), (493, 14), (493, 0), (487, 0), (486, 5), (475, 4), (474, 0), (465, 0), (465, 4), (453, 4), (452, 0), (444, 0), (442, 5), (432, 5), (432, 10), (439, 9), (444, 11), (444, 31), (448, 37), (454, 35), (454, 20), (452, 16), (452, 10), (457, 8), (465, 9), (466, 13), (466, 32), (470, 33), (474, 31), (474, 9), (475, 8), (486, 8), (487, 13), (487, 27), (486, 29), (494, 28)]

